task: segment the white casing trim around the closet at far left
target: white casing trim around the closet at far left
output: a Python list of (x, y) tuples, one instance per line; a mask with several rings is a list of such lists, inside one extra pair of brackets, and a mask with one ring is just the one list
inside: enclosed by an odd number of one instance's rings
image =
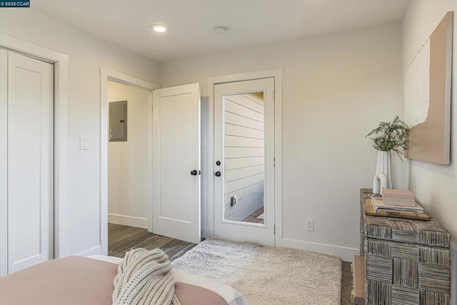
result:
[[(69, 255), (68, 239), (68, 64), (69, 56), (42, 46), (31, 44), (15, 37), (0, 34), (2, 48), (19, 52), (35, 59), (54, 64), (54, 258)], [(6, 104), (6, 96), (0, 96), (1, 104)], [(5, 99), (5, 100), (4, 100)], [(1, 111), (4, 113), (4, 111)], [(1, 124), (6, 120), (1, 118)], [(6, 144), (0, 147), (0, 158)], [(6, 156), (6, 155), (5, 155)], [(4, 160), (0, 160), (4, 162)], [(6, 181), (0, 174), (0, 231), (3, 237), (7, 229)], [(4, 227), (5, 226), (5, 227)], [(5, 249), (0, 251), (0, 276), (7, 272), (8, 256)]]

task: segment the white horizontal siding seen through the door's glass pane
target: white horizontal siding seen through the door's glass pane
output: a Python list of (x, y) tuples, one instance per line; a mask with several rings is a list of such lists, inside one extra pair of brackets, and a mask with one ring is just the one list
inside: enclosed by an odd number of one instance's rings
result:
[[(226, 96), (224, 111), (225, 219), (241, 221), (263, 207), (263, 99)], [(232, 196), (238, 197), (233, 206)]]

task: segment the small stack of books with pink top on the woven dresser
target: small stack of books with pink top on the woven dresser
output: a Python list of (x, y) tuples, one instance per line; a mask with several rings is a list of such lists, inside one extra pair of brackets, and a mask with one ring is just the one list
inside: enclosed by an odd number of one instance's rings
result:
[(423, 213), (423, 209), (416, 202), (411, 191), (403, 189), (383, 189), (382, 196), (371, 198), (374, 212), (377, 211), (411, 211)]

